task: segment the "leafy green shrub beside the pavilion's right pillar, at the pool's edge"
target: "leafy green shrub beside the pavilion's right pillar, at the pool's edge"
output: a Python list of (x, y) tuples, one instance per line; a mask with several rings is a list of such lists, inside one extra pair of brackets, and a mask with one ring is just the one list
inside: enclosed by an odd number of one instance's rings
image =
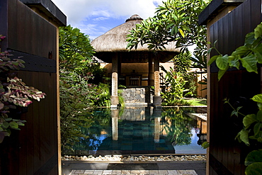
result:
[(161, 84), (162, 104), (166, 105), (180, 105), (183, 103), (183, 92), (188, 91), (184, 88), (186, 81), (180, 72), (175, 72), (172, 68), (166, 71), (163, 66), (161, 69), (166, 73), (163, 84)]

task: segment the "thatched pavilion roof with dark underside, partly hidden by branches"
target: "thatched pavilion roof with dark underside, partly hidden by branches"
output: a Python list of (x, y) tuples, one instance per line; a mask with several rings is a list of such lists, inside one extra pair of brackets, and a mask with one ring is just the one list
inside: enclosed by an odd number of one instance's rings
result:
[[(123, 58), (122, 62), (148, 62), (148, 57), (155, 55), (151, 50), (148, 50), (147, 45), (139, 45), (137, 50), (132, 49), (130, 52), (126, 49), (127, 35), (130, 34), (129, 30), (135, 28), (136, 24), (141, 23), (141, 21), (142, 18), (133, 15), (125, 23), (94, 39), (91, 45), (96, 50), (95, 56), (104, 62), (112, 62), (112, 56), (117, 52), (118, 57)], [(179, 49), (176, 48), (176, 44), (169, 43), (169, 45), (166, 45), (166, 50), (159, 50), (156, 55), (158, 55), (161, 62), (167, 62), (178, 53)]]

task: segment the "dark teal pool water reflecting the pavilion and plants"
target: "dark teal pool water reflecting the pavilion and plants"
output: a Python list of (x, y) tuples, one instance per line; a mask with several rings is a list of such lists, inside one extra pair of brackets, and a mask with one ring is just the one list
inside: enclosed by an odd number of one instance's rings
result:
[(205, 154), (206, 108), (98, 108), (74, 154)]

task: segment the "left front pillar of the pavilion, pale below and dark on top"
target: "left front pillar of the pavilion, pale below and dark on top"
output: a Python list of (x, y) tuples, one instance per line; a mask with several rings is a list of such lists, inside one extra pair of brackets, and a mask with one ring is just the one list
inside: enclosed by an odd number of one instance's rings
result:
[(110, 108), (118, 108), (118, 53), (112, 58), (112, 96)]

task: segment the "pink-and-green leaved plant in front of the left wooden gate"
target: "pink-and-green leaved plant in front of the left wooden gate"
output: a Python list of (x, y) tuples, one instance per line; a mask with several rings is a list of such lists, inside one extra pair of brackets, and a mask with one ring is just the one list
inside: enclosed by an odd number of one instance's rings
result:
[[(0, 35), (0, 41), (4, 38)], [(3, 142), (4, 137), (11, 135), (11, 129), (20, 130), (18, 127), (25, 125), (25, 120), (11, 116), (11, 110), (16, 106), (28, 107), (30, 103), (33, 103), (31, 99), (40, 101), (40, 98), (45, 98), (45, 93), (42, 91), (26, 86), (22, 79), (8, 74), (10, 69), (24, 67), (23, 60), (11, 60), (9, 58), (11, 56), (13, 55), (8, 51), (0, 52), (0, 143)]]

